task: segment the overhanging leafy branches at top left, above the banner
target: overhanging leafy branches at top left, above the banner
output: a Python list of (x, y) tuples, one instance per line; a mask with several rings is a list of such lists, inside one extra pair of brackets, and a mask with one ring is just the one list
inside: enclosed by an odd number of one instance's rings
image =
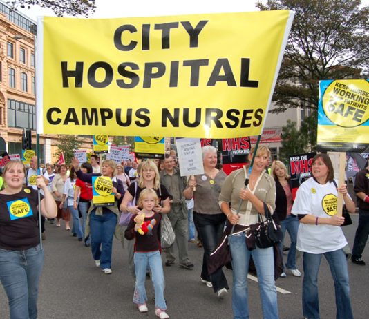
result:
[(40, 6), (41, 8), (50, 8), (58, 17), (67, 15), (83, 15), (88, 17), (95, 12), (95, 0), (11, 0), (8, 1), (12, 8), (28, 8), (31, 6)]

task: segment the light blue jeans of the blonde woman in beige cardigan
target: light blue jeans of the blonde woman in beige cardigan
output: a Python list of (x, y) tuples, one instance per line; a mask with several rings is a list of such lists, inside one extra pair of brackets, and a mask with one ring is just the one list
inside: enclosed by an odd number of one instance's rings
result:
[(250, 257), (254, 260), (258, 273), (263, 319), (278, 319), (278, 304), (274, 282), (273, 247), (249, 251), (246, 247), (245, 233), (231, 236), (231, 255), (233, 267), (232, 309), (234, 319), (248, 319), (247, 273)]

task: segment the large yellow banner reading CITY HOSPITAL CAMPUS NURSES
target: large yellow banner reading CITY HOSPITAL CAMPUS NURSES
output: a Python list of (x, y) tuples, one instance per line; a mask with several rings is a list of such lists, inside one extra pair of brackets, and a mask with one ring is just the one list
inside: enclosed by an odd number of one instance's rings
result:
[(37, 133), (261, 133), (287, 10), (38, 21)]

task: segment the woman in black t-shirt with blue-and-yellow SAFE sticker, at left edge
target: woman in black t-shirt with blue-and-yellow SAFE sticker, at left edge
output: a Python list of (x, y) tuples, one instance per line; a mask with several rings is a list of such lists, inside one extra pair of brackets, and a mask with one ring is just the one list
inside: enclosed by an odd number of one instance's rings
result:
[[(37, 318), (39, 278), (44, 266), (38, 227), (38, 195), (32, 187), (23, 188), (26, 169), (22, 162), (11, 161), (3, 171), (5, 189), (0, 191), (0, 280), (9, 300), (10, 318)], [(37, 176), (41, 213), (55, 218), (57, 205), (45, 184)]]

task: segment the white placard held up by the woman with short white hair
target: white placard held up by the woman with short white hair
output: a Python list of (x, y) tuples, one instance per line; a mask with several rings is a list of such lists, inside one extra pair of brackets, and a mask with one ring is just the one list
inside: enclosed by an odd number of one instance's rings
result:
[(202, 164), (200, 139), (177, 139), (178, 161), (180, 162), (180, 175), (198, 175), (204, 173)]

